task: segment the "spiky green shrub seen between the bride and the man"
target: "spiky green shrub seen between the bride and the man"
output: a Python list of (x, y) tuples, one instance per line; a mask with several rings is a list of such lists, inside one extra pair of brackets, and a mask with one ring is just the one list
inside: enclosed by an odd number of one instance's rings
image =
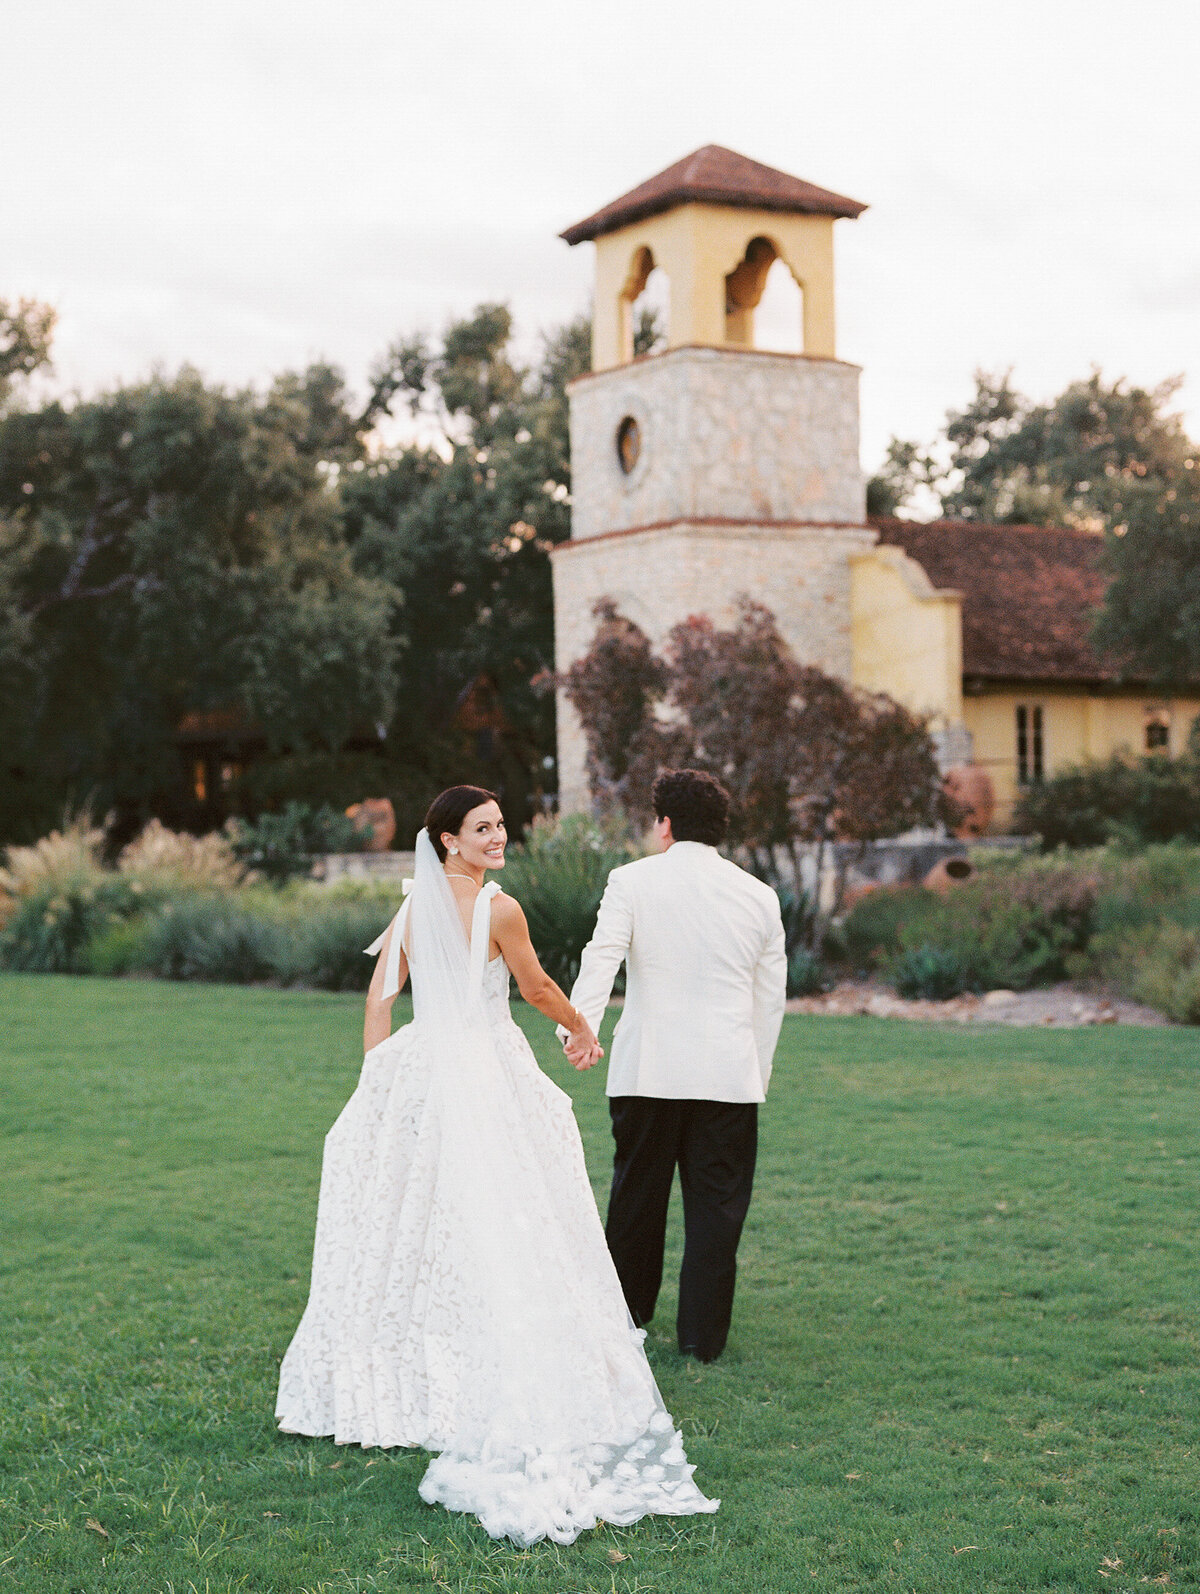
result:
[(586, 815), (534, 819), (524, 845), (508, 853), (504, 889), (524, 909), (542, 968), (563, 990), (578, 974), (609, 872), (636, 856), (622, 827)]

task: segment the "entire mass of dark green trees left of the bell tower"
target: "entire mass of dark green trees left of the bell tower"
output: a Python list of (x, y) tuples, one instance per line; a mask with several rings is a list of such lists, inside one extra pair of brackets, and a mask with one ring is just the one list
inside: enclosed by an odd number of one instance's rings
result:
[[(376, 792), (411, 834), (461, 779), (516, 826), (540, 808), (553, 703), (531, 682), (553, 660), (586, 319), (523, 360), (483, 304), (387, 349), (365, 403), (312, 365), (265, 392), (183, 370), (22, 408), (51, 327), (0, 304), (0, 835), (64, 803), (204, 826)], [(655, 333), (642, 317), (639, 347)], [(198, 714), (231, 760), (202, 808), (178, 735)], [(257, 738), (241, 771), (234, 733)]]

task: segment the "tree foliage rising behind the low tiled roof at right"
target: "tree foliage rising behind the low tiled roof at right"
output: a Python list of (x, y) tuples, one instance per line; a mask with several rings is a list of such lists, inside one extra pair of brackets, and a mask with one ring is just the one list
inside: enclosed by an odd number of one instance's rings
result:
[(1049, 403), (1010, 373), (975, 373), (942, 437), (892, 438), (867, 505), (924, 504), (945, 516), (1103, 534), (1111, 575), (1096, 642), (1127, 671), (1163, 682), (1200, 677), (1200, 446), (1170, 405), (1181, 379), (1154, 389), (1093, 371)]

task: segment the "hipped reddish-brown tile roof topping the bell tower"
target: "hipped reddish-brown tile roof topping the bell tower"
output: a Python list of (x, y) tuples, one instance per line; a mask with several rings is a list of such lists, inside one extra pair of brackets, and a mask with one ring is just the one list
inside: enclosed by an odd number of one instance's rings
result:
[(719, 143), (706, 143), (682, 161), (668, 166), (657, 177), (649, 177), (628, 194), (606, 204), (594, 215), (575, 222), (559, 233), (569, 244), (583, 244), (590, 238), (615, 233), (618, 226), (658, 215), (679, 204), (692, 202), (727, 204), (743, 210), (782, 210), (789, 215), (862, 215), (867, 209), (857, 199), (818, 188), (800, 177), (789, 177), (775, 166), (751, 161), (736, 150)]

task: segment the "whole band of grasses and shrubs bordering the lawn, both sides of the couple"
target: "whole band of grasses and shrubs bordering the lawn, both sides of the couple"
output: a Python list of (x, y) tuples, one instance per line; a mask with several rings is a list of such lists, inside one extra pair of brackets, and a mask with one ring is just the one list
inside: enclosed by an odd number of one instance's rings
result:
[[(222, 837), (150, 827), (115, 867), (102, 843), (76, 824), (10, 851), (0, 968), (365, 990), (362, 948), (398, 904), (395, 885), (245, 883)], [(620, 830), (583, 818), (539, 823), (510, 851), (504, 885), (564, 988), (609, 870), (633, 856)], [(880, 974), (905, 996), (1082, 979), (1200, 1023), (1200, 846), (978, 859), (978, 878), (945, 897), (918, 886), (864, 897), (830, 932), (824, 963), (790, 936), (789, 990), (819, 988), (838, 964)], [(802, 909), (784, 901), (792, 929)]]

